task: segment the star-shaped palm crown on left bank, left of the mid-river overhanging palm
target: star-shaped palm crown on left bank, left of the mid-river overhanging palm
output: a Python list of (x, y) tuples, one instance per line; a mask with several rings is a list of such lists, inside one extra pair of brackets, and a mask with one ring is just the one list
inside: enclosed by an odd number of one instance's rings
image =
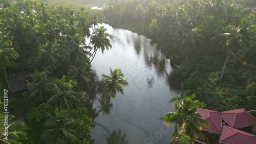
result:
[(83, 92), (74, 91), (76, 83), (73, 81), (66, 82), (66, 76), (54, 83), (52, 89), (53, 96), (48, 100), (48, 104), (57, 105), (60, 109), (71, 109), (74, 106), (80, 106), (80, 99), (84, 97)]

